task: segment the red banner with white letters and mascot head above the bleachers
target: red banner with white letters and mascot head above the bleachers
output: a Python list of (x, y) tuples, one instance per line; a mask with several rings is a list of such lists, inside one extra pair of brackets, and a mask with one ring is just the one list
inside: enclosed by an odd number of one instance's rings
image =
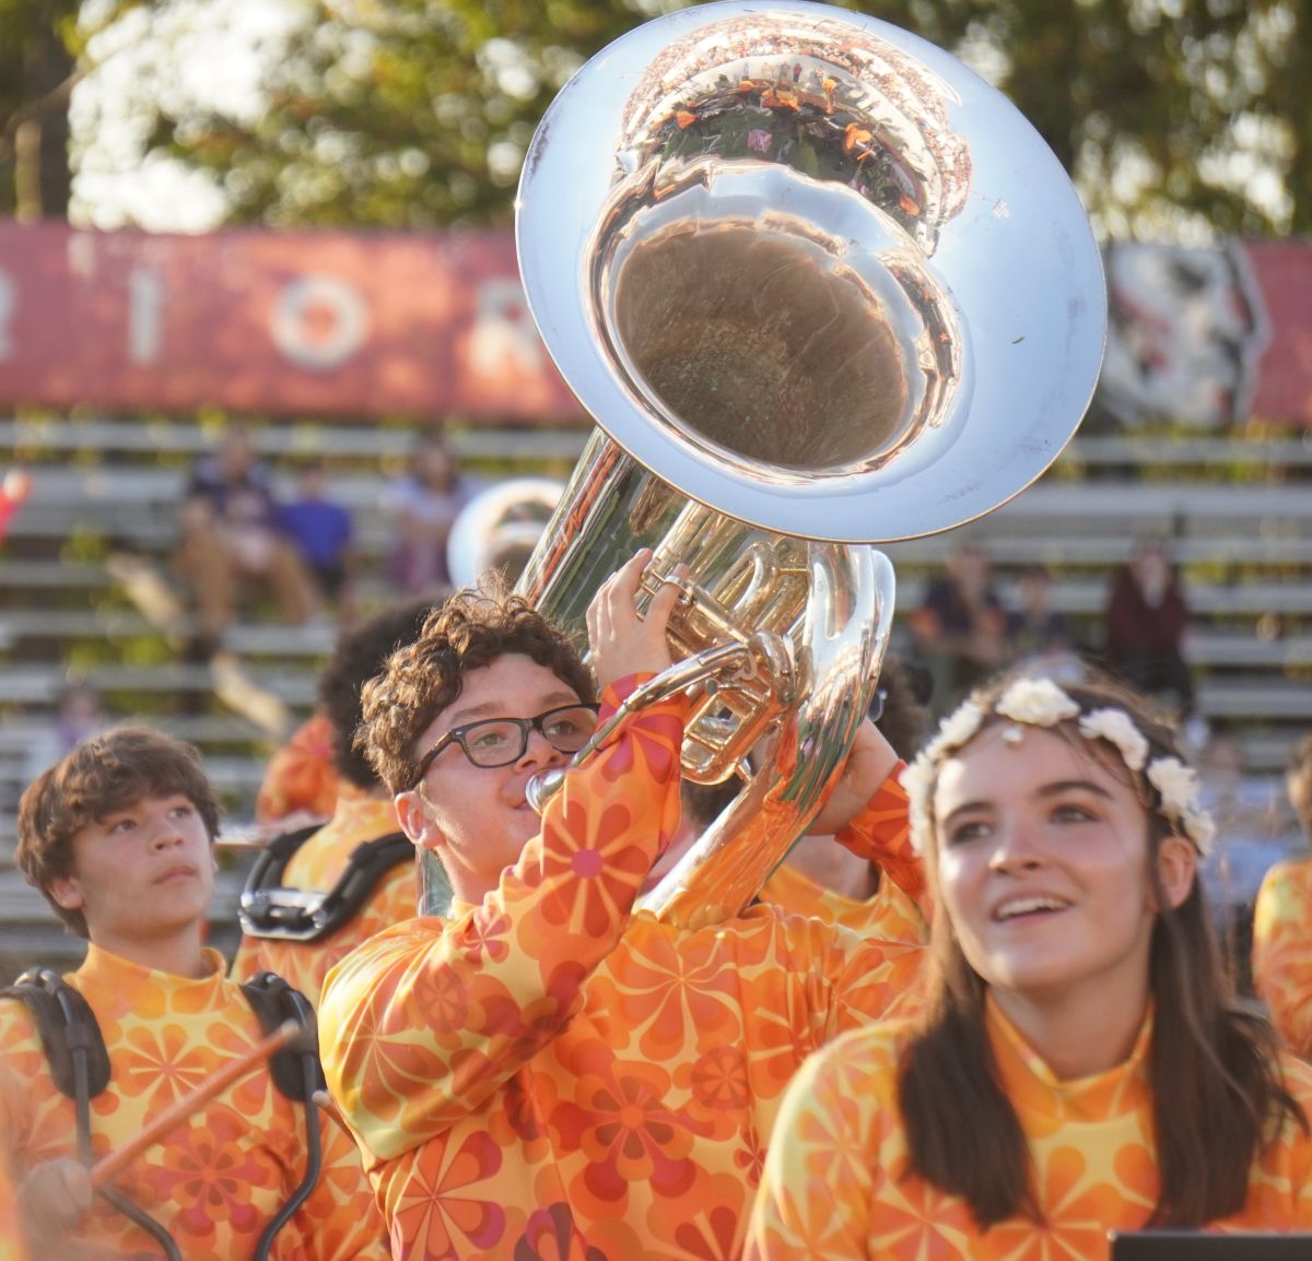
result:
[[(1312, 426), (1312, 244), (1105, 253), (1096, 410)], [(509, 233), (77, 232), (0, 223), (0, 405), (577, 417)]]

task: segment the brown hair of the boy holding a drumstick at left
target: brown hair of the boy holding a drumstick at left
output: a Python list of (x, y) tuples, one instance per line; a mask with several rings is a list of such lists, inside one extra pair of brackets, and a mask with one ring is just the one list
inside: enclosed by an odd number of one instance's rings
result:
[(73, 838), (88, 823), (148, 797), (186, 797), (213, 842), (219, 804), (201, 769), (201, 755), (184, 741), (147, 726), (122, 726), (83, 741), (28, 785), (18, 801), (14, 861), (70, 932), (87, 937), (81, 911), (50, 895), (56, 880), (73, 874)]

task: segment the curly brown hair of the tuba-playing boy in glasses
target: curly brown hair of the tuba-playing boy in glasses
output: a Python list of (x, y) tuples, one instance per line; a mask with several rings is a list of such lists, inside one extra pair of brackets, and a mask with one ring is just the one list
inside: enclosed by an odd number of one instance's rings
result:
[(594, 699), (592, 674), (565, 636), (502, 579), (485, 578), (433, 612), (419, 638), (398, 649), (361, 692), (356, 743), (392, 794), (419, 781), (416, 742), (461, 695), (466, 675), (508, 653), (546, 666), (580, 700)]

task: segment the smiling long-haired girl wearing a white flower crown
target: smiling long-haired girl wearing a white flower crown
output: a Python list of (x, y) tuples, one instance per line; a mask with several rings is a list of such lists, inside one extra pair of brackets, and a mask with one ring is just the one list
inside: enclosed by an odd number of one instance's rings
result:
[(928, 1000), (812, 1057), (749, 1258), (1106, 1258), (1109, 1231), (1312, 1228), (1312, 1068), (1239, 1007), (1194, 772), (1147, 703), (1010, 679), (903, 777)]

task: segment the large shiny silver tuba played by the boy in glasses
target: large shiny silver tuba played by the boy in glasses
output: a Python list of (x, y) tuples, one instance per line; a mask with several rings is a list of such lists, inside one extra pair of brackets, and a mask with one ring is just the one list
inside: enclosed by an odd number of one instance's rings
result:
[(690, 689), (684, 776), (741, 786), (643, 904), (714, 923), (865, 720), (893, 613), (871, 544), (992, 511), (1080, 423), (1098, 249), (1000, 93), (904, 30), (790, 0), (670, 13), (588, 62), (530, 144), (516, 233), (538, 330), (601, 426), (520, 590), (584, 648), (638, 547), (643, 599), (689, 566), (678, 665), (638, 703)]

